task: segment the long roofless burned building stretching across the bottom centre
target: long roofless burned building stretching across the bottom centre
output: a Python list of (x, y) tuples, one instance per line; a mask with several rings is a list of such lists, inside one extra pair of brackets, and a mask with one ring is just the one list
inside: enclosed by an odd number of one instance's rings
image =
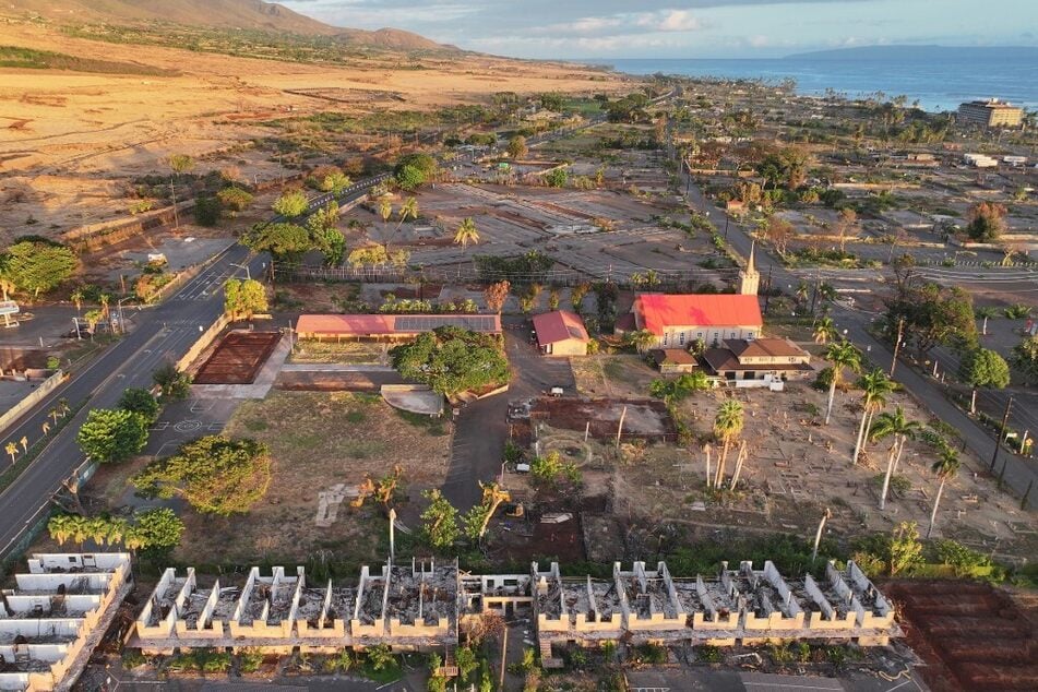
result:
[(395, 651), (452, 647), (488, 613), (529, 617), (545, 665), (552, 647), (607, 641), (663, 645), (824, 640), (885, 645), (900, 630), (891, 604), (854, 562), (824, 580), (787, 580), (771, 562), (723, 563), (681, 578), (666, 563), (613, 565), (612, 577), (563, 576), (558, 563), (529, 574), (476, 575), (457, 563), (386, 561), (356, 583), (307, 582), (259, 568), (238, 582), (200, 585), (193, 570), (165, 572), (144, 606), (131, 646), (170, 654), (192, 647), (333, 653), (385, 644)]

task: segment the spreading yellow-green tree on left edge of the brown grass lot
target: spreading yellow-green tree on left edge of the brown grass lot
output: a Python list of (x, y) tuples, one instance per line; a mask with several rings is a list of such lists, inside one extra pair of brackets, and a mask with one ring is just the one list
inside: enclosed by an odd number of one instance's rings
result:
[(271, 485), (271, 453), (254, 440), (206, 436), (148, 464), (131, 482), (145, 496), (181, 497), (203, 514), (248, 512)]

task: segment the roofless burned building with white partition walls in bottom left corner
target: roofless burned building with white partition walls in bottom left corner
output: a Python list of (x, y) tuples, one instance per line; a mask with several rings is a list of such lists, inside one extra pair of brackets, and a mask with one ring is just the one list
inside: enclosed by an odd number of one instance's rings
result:
[(69, 690), (132, 588), (124, 552), (37, 553), (0, 590), (0, 690)]

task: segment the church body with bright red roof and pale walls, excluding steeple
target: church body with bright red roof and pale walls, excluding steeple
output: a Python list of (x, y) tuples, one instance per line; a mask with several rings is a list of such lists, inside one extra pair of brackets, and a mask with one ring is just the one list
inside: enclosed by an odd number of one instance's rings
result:
[(664, 348), (688, 347), (696, 339), (707, 346), (754, 339), (764, 326), (757, 297), (736, 294), (640, 294), (631, 314), (632, 326), (655, 334), (655, 346)]

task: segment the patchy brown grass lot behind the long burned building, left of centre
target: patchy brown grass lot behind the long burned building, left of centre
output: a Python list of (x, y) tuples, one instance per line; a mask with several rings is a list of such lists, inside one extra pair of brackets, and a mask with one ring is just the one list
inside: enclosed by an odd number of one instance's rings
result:
[(377, 562), (384, 558), (380, 511), (371, 504), (350, 509), (346, 500), (330, 526), (318, 527), (318, 493), (336, 484), (356, 486), (367, 474), (381, 477), (401, 464), (403, 513), (422, 488), (442, 482), (450, 453), (449, 436), (406, 421), (378, 396), (347, 393), (274, 391), (243, 403), (224, 432), (270, 444), (274, 480), (248, 516), (213, 520), (184, 512), (188, 532), (175, 556), (180, 562), (295, 563), (320, 550)]

